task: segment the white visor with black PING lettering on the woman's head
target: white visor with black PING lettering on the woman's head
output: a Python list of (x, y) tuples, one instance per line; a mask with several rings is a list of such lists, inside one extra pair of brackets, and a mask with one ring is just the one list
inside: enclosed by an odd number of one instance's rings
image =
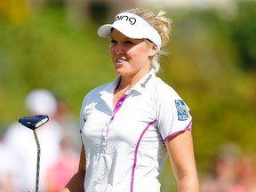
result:
[(130, 12), (117, 14), (112, 24), (103, 25), (98, 29), (98, 35), (108, 37), (111, 35), (112, 28), (116, 28), (116, 30), (129, 38), (148, 39), (156, 44), (158, 51), (161, 49), (161, 37), (159, 33), (146, 20), (143, 20), (136, 14)]

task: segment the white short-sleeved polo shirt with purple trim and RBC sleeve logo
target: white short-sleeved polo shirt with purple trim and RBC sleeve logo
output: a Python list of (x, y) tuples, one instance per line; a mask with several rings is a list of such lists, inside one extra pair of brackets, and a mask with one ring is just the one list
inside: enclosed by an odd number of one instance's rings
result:
[(168, 156), (164, 142), (191, 130), (188, 107), (152, 69), (113, 108), (120, 80), (85, 97), (81, 134), (86, 156), (86, 192), (157, 192)]

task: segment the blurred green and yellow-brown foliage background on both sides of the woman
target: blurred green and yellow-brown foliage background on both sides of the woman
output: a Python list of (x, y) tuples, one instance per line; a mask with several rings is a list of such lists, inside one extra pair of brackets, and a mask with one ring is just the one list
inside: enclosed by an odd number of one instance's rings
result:
[[(35, 88), (64, 100), (78, 122), (84, 94), (116, 77), (108, 39), (97, 36), (117, 13), (113, 4), (77, 13), (79, 6), (71, 9), (67, 2), (44, 1), (28, 10), (25, 1), (0, 0), (1, 129), (27, 114), (24, 100)], [(164, 8), (172, 35), (158, 76), (190, 108), (199, 175), (211, 169), (223, 143), (256, 149), (256, 2), (233, 3)], [(167, 163), (163, 191), (175, 186), (170, 170)]]

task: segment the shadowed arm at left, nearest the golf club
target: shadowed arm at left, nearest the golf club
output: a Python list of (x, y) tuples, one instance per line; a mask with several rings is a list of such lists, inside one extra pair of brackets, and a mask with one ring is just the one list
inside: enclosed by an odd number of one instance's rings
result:
[(68, 184), (61, 192), (84, 192), (85, 172), (85, 150), (82, 144), (78, 172), (68, 181)]

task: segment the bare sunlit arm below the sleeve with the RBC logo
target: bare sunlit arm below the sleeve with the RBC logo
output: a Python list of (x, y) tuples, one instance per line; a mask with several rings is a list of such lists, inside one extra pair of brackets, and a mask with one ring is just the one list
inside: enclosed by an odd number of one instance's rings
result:
[(179, 192), (199, 192), (191, 132), (181, 132), (165, 142)]

